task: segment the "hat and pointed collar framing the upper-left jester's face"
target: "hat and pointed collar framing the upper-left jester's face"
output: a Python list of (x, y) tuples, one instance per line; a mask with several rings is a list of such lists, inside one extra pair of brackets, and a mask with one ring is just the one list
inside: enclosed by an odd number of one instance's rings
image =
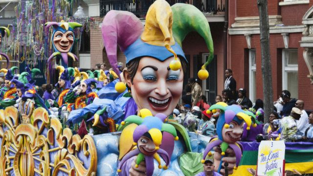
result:
[[(66, 33), (67, 31), (72, 31), (73, 32), (73, 40), (75, 41), (74, 29), (76, 27), (82, 27), (83, 24), (80, 24), (78, 22), (64, 22), (62, 20), (61, 22), (46, 22), (45, 26), (46, 26), (46, 28), (49, 28), (50, 26), (53, 27), (51, 41), (53, 41), (54, 33), (57, 32), (57, 31), (61, 31), (63, 33)], [(74, 61), (75, 61), (75, 59), (78, 60), (77, 56), (75, 56), (73, 53), (70, 52), (72, 50), (73, 45), (69, 49), (68, 53), (62, 53), (62, 52), (57, 50), (57, 48), (55, 47), (53, 42), (52, 42), (52, 44), (53, 44), (53, 48), (54, 48), (55, 52), (49, 57), (47, 63), (49, 63), (51, 61), (51, 59), (54, 58), (57, 55), (61, 55), (62, 56), (63, 62), (66, 65), (68, 64), (67, 56), (70, 56)]]

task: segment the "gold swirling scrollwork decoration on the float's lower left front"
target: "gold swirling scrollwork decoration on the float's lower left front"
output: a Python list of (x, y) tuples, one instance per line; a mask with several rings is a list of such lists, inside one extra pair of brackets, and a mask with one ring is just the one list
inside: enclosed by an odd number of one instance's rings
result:
[(58, 118), (33, 106), (26, 101), (19, 106), (23, 110), (0, 110), (0, 176), (95, 176), (97, 152), (91, 136), (73, 135)]

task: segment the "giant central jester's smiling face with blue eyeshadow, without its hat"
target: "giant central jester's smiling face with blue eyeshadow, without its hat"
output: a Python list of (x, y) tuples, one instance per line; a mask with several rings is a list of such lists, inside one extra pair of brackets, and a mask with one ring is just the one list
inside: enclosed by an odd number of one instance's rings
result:
[(140, 59), (133, 83), (126, 73), (125, 80), (132, 89), (132, 96), (138, 110), (151, 110), (153, 115), (170, 115), (179, 102), (182, 92), (183, 71), (169, 69), (174, 57), (161, 62), (152, 57)]

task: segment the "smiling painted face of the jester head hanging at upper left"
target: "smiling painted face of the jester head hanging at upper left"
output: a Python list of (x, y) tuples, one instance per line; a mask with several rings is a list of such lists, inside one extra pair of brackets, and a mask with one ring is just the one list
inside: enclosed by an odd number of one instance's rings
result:
[(74, 42), (74, 34), (72, 31), (56, 31), (53, 35), (53, 44), (60, 52), (67, 53)]

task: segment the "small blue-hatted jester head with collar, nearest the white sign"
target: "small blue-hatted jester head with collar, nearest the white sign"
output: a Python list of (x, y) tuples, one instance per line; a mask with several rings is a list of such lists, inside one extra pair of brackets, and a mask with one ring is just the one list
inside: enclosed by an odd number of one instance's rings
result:
[[(228, 147), (232, 148), (236, 154), (236, 165), (234, 169), (237, 169), (241, 156), (242, 156), (242, 145), (238, 143), (243, 133), (242, 127), (244, 122), (246, 122), (246, 130), (250, 130), (251, 123), (252, 127), (256, 127), (256, 121), (250, 116), (250, 114), (242, 110), (238, 105), (227, 106), (224, 102), (219, 102), (215, 105), (212, 105), (207, 113), (216, 112), (216, 110), (221, 110), (220, 117), (217, 121), (216, 132), (217, 137), (212, 137), (209, 144), (206, 146), (203, 154), (203, 159), (201, 160), (204, 163), (206, 155), (212, 155), (211, 150), (215, 146), (220, 146), (222, 150), (222, 158), (225, 155), (226, 149)], [(220, 163), (218, 172), (221, 170), (222, 162)]]

